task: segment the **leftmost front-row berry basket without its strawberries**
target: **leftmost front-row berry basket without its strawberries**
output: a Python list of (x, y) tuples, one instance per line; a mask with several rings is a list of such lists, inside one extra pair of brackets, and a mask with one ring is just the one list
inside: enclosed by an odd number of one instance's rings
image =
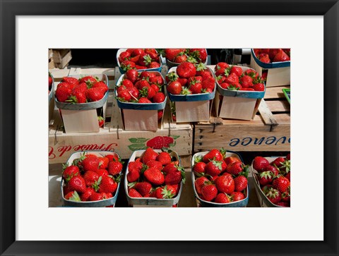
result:
[[(112, 152), (112, 151), (93, 150), (93, 151), (86, 151), (86, 152), (75, 152), (71, 154), (71, 157), (69, 157), (69, 159), (67, 160), (66, 165), (70, 166), (73, 163), (73, 160), (81, 157), (83, 153), (95, 154), (97, 157), (105, 157), (108, 154), (113, 154), (116, 157), (119, 157), (119, 154)], [(122, 171), (120, 172), (120, 174), (121, 173)], [(64, 187), (65, 183), (64, 183), (64, 178), (63, 178), (61, 181), (61, 197), (64, 202), (64, 206), (67, 206), (67, 207), (114, 207), (115, 202), (117, 201), (117, 198), (118, 198), (120, 183), (121, 181), (118, 183), (118, 187), (117, 187), (117, 191), (115, 192), (115, 195), (109, 199), (99, 200), (99, 201), (78, 202), (78, 201), (66, 200), (64, 198), (64, 190), (62, 188)]]

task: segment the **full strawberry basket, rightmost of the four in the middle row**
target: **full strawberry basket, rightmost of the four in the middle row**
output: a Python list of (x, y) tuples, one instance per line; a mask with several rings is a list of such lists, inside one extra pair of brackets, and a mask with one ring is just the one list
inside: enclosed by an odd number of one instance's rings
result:
[(220, 62), (214, 68), (217, 78), (215, 111), (222, 118), (251, 120), (256, 115), (266, 87), (252, 68)]

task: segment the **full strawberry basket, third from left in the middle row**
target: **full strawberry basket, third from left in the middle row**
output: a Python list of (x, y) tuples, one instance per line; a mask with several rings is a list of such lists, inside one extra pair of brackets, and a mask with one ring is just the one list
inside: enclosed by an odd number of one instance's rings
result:
[(215, 96), (215, 78), (210, 68), (203, 63), (184, 62), (170, 68), (166, 80), (173, 121), (210, 120)]

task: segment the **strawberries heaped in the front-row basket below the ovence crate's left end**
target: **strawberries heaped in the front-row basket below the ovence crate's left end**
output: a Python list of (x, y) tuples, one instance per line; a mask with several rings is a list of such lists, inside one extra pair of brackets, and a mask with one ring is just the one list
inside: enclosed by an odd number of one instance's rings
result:
[(201, 200), (220, 204), (244, 200), (249, 166), (225, 154), (225, 150), (214, 149), (194, 159), (194, 186)]

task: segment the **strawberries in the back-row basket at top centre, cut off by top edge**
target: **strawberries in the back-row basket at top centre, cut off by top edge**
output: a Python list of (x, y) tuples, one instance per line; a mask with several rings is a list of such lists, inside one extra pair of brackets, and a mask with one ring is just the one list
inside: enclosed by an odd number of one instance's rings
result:
[(207, 59), (206, 49), (165, 49), (165, 57), (174, 63), (205, 63)]

